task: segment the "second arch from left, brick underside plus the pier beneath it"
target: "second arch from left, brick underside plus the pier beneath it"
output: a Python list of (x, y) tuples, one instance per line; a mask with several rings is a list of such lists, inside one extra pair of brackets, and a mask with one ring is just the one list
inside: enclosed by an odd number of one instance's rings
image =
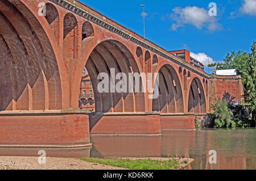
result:
[[(159, 134), (160, 117), (156, 114), (145, 113), (145, 95), (143, 93), (142, 80), (139, 80), (139, 91), (135, 91), (134, 78), (129, 82), (129, 74), (141, 73), (139, 66), (130, 50), (117, 40), (106, 40), (98, 44), (90, 53), (86, 61), (86, 70), (89, 73), (93, 85), (96, 113), (89, 115), (90, 134)], [(114, 72), (114, 74), (112, 74)], [(98, 75), (105, 73), (104, 76)], [(118, 77), (123, 73), (126, 77)], [(110, 77), (112, 74), (112, 77)], [(110, 86), (101, 93), (98, 90), (99, 83), (109, 77), (108, 82), (113, 81), (116, 88), (122, 88), (122, 92), (110, 91)], [(112, 78), (112, 80), (110, 80)], [(127, 82), (127, 87), (122, 87), (120, 80)], [(105, 82), (105, 81), (104, 81)], [(105, 82), (105, 83), (106, 83)], [(137, 85), (138, 86), (138, 85)], [(130, 87), (130, 89), (129, 89)], [(102, 87), (105, 88), (105, 87)], [(126, 93), (127, 92), (127, 93)]]

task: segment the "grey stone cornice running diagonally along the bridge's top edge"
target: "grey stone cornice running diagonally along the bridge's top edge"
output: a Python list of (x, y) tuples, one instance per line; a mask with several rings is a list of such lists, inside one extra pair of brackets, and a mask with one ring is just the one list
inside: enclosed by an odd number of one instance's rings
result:
[[(142, 41), (142, 40), (138, 39), (137, 37), (131, 35), (129, 32), (125, 32), (125, 31), (121, 30), (120, 28), (114, 26), (113, 24), (106, 22), (105, 19), (102, 19), (85, 9), (82, 9), (80, 6), (77, 6), (75, 3), (69, 2), (68, 0), (49, 0), (49, 1), (55, 3), (56, 5), (58, 5), (60, 7), (63, 7), (64, 9), (72, 11), (73, 13), (75, 13), (85, 19), (88, 19), (90, 22), (93, 22), (94, 24), (97, 24), (98, 26), (101, 26), (101, 27), (105, 28), (106, 30), (109, 30), (110, 32), (117, 33), (119, 36), (122, 36), (123, 38), (125, 38), (129, 41), (132, 41), (133, 43), (135, 43), (143, 48), (146, 48), (146, 49), (150, 50), (151, 52), (158, 54), (161, 57), (171, 60), (175, 64), (183, 66), (184, 68), (186, 68), (196, 74), (199, 74), (201, 77), (209, 79), (208, 74), (202, 73), (201, 71), (197, 70), (196, 68), (193, 68), (192, 66), (188, 66), (187, 64), (184, 64), (183, 60), (179, 60), (179, 58), (175, 59), (174, 57), (170, 56), (170, 54), (167, 54), (167, 53), (163, 52), (162, 50), (160, 50), (163, 48), (159, 47), (158, 45), (156, 45), (156, 46), (158, 46), (159, 49), (155, 48), (152, 45), (145, 42), (148, 40), (144, 39), (144, 41)], [(125, 28), (125, 27), (123, 27), (123, 28)], [(152, 44), (154, 44), (154, 43), (152, 43)]]

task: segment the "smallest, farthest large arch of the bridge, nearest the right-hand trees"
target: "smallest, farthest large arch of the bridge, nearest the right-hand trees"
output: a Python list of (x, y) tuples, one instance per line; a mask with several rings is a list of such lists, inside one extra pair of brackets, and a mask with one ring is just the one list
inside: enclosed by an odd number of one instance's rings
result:
[(188, 112), (207, 113), (204, 86), (200, 79), (195, 77), (188, 87)]

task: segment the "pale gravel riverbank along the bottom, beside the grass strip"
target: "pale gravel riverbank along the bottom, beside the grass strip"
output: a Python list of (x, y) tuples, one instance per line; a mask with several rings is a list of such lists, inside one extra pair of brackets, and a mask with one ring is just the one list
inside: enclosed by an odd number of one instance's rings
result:
[[(130, 161), (148, 158), (122, 158)], [(150, 158), (152, 161), (168, 161), (172, 158)], [(106, 160), (106, 159), (101, 159)], [(177, 158), (178, 167), (182, 169), (191, 163), (191, 158)], [(121, 167), (87, 162), (78, 158), (46, 158), (46, 164), (40, 165), (38, 157), (0, 157), (0, 170), (124, 170)]]

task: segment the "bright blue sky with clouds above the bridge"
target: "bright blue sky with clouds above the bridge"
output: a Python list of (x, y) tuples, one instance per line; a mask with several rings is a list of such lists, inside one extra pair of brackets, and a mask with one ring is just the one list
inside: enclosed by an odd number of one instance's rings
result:
[[(145, 5), (146, 39), (167, 50), (188, 49), (204, 64), (207, 55), (220, 62), (230, 51), (250, 52), (256, 41), (256, 0), (81, 1), (142, 36)], [(210, 2), (217, 16), (209, 16)]]

